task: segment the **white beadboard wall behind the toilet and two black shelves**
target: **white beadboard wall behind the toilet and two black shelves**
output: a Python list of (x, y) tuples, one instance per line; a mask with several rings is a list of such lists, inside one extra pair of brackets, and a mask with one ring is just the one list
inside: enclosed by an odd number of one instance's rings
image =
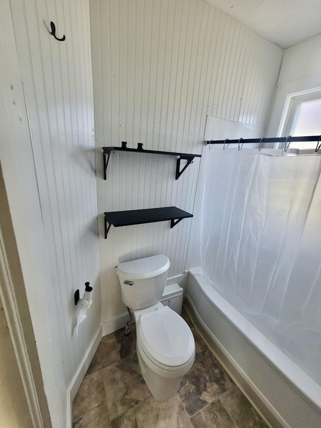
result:
[[(175, 205), (193, 213), (200, 159), (175, 180), (166, 156), (99, 148), (202, 153), (207, 114), (264, 127), (281, 49), (202, 0), (91, 0), (100, 264), (104, 321), (124, 311), (114, 267), (166, 254), (184, 271), (192, 219), (111, 227), (103, 212)], [(227, 135), (228, 137), (228, 135)]]

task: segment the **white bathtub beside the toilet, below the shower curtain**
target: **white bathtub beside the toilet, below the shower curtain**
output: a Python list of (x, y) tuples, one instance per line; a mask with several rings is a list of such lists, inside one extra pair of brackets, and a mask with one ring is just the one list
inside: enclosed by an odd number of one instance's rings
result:
[(321, 387), (224, 300), (200, 267), (189, 272), (185, 302), (201, 335), (270, 426), (321, 427)]

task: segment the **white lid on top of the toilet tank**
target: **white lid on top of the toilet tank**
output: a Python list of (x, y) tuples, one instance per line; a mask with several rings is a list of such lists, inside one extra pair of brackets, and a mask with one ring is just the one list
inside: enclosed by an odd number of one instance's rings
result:
[(158, 254), (118, 264), (117, 274), (128, 279), (146, 279), (161, 275), (170, 268), (170, 260), (166, 255)]

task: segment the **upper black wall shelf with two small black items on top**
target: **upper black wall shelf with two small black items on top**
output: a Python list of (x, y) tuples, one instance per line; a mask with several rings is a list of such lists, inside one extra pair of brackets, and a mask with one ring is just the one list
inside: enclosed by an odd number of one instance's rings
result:
[[(103, 161), (104, 161), (104, 180), (106, 180), (106, 170), (107, 170), (110, 153), (115, 151), (131, 152), (131, 153), (149, 153), (154, 155), (179, 156), (179, 159), (176, 162), (175, 180), (178, 180), (178, 178), (184, 173), (186, 168), (193, 163), (194, 158), (201, 158), (201, 155), (192, 155), (189, 153), (159, 152), (157, 150), (144, 150), (142, 148), (142, 144), (140, 143), (138, 144), (137, 149), (129, 149), (127, 148), (126, 141), (121, 142), (121, 147), (103, 147), (102, 150), (103, 150)], [(180, 171), (182, 160), (187, 161), (187, 164)]]

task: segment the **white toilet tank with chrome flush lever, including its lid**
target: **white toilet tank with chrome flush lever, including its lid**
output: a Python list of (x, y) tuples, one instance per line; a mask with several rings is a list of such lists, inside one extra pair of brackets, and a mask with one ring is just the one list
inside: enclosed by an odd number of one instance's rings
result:
[(119, 263), (117, 274), (123, 303), (130, 309), (143, 309), (159, 302), (169, 268), (170, 260), (163, 254)]

